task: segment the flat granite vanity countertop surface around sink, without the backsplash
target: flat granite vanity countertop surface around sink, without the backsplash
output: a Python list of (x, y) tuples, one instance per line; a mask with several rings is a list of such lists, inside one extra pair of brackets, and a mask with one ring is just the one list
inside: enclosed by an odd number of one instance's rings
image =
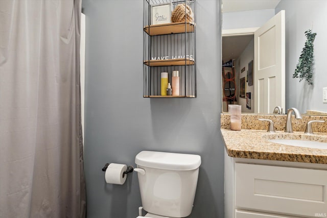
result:
[(282, 138), (287, 135), (289, 139), (327, 142), (327, 133), (307, 135), (303, 132), (276, 131), (275, 133), (268, 133), (266, 130), (242, 129), (241, 131), (232, 131), (221, 129), (221, 134), (230, 157), (327, 164), (327, 148), (302, 148), (267, 140)]

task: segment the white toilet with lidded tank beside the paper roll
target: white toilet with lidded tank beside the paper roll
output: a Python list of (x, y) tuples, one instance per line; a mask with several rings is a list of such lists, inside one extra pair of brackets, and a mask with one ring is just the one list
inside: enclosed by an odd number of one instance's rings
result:
[(142, 151), (135, 157), (143, 209), (148, 218), (191, 214), (201, 157), (193, 154)]

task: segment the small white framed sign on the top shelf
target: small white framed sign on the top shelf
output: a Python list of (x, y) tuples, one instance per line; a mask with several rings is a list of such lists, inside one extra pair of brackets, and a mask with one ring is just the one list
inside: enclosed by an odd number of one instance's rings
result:
[(172, 4), (159, 4), (151, 6), (151, 25), (171, 22)]

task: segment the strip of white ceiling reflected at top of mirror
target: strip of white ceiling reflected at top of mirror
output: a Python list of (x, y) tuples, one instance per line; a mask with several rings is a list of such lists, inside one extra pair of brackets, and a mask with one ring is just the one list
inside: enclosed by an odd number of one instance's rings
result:
[(274, 9), (281, 0), (222, 0), (222, 12)]

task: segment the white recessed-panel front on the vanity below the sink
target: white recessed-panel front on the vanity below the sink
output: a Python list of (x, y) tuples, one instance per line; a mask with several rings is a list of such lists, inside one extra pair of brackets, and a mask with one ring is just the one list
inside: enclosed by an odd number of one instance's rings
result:
[(326, 213), (327, 171), (235, 164), (236, 208), (315, 217)]

